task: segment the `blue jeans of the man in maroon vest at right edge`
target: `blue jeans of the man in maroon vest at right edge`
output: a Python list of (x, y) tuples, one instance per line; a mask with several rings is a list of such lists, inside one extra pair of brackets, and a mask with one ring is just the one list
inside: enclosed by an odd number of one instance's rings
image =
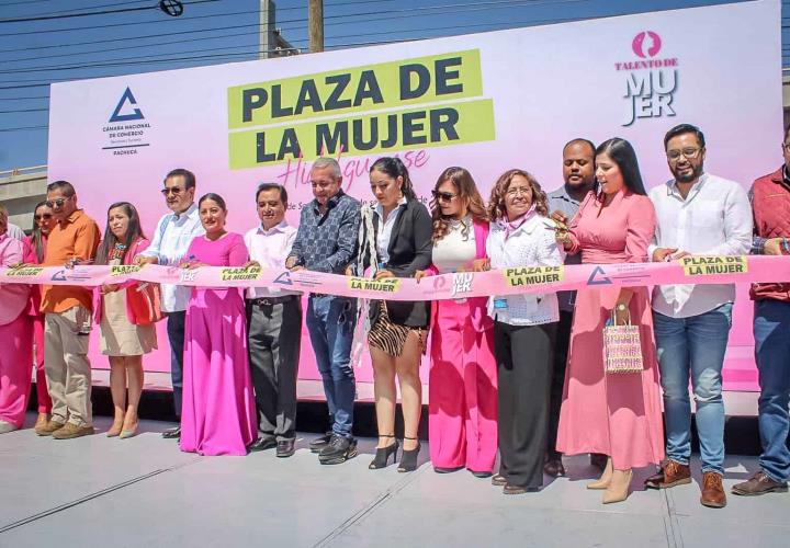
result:
[(775, 481), (790, 479), (790, 302), (755, 302), (755, 359), (759, 372), (760, 467)]

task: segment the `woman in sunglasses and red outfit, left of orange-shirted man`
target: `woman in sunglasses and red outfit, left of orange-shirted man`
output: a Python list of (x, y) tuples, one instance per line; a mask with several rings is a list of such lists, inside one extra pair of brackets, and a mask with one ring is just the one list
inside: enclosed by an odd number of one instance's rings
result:
[[(33, 213), (33, 230), (23, 242), (24, 263), (41, 264), (44, 261), (46, 240), (49, 231), (55, 228), (55, 217), (46, 202), (36, 204)], [(44, 374), (44, 313), (41, 311), (41, 285), (31, 287), (30, 306), (27, 315), (33, 319), (33, 347), (36, 368), (36, 398), (38, 401), (38, 418), (34, 430), (43, 429), (49, 422), (52, 413), (52, 399), (46, 386)]]

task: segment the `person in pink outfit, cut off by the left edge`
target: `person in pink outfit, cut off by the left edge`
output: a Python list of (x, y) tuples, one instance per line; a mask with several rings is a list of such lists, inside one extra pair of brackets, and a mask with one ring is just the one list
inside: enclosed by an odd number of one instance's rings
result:
[[(0, 266), (22, 263), (22, 242), (8, 235), (8, 210), (0, 205)], [(0, 284), (0, 434), (22, 427), (33, 363), (30, 286)]]

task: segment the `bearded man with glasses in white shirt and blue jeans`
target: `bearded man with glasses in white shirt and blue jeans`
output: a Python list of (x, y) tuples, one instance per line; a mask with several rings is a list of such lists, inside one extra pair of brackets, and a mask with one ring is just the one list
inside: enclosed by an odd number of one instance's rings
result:
[[(704, 136), (681, 124), (664, 138), (674, 179), (651, 190), (657, 225), (648, 253), (653, 261), (688, 255), (745, 255), (752, 246), (752, 210), (744, 189), (703, 170)], [(690, 483), (693, 389), (702, 461), (700, 502), (726, 505), (722, 487), (724, 403), (722, 366), (726, 351), (734, 284), (666, 285), (653, 289), (653, 322), (664, 390), (667, 457), (652, 488)]]

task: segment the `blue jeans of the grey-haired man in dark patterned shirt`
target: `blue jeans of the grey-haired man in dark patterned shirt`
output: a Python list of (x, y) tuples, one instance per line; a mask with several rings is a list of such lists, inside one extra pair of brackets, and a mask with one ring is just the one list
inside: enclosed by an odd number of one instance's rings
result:
[(311, 296), (307, 331), (316, 355), (332, 432), (351, 437), (357, 396), (351, 368), (351, 342), (357, 324), (357, 301), (332, 296)]

